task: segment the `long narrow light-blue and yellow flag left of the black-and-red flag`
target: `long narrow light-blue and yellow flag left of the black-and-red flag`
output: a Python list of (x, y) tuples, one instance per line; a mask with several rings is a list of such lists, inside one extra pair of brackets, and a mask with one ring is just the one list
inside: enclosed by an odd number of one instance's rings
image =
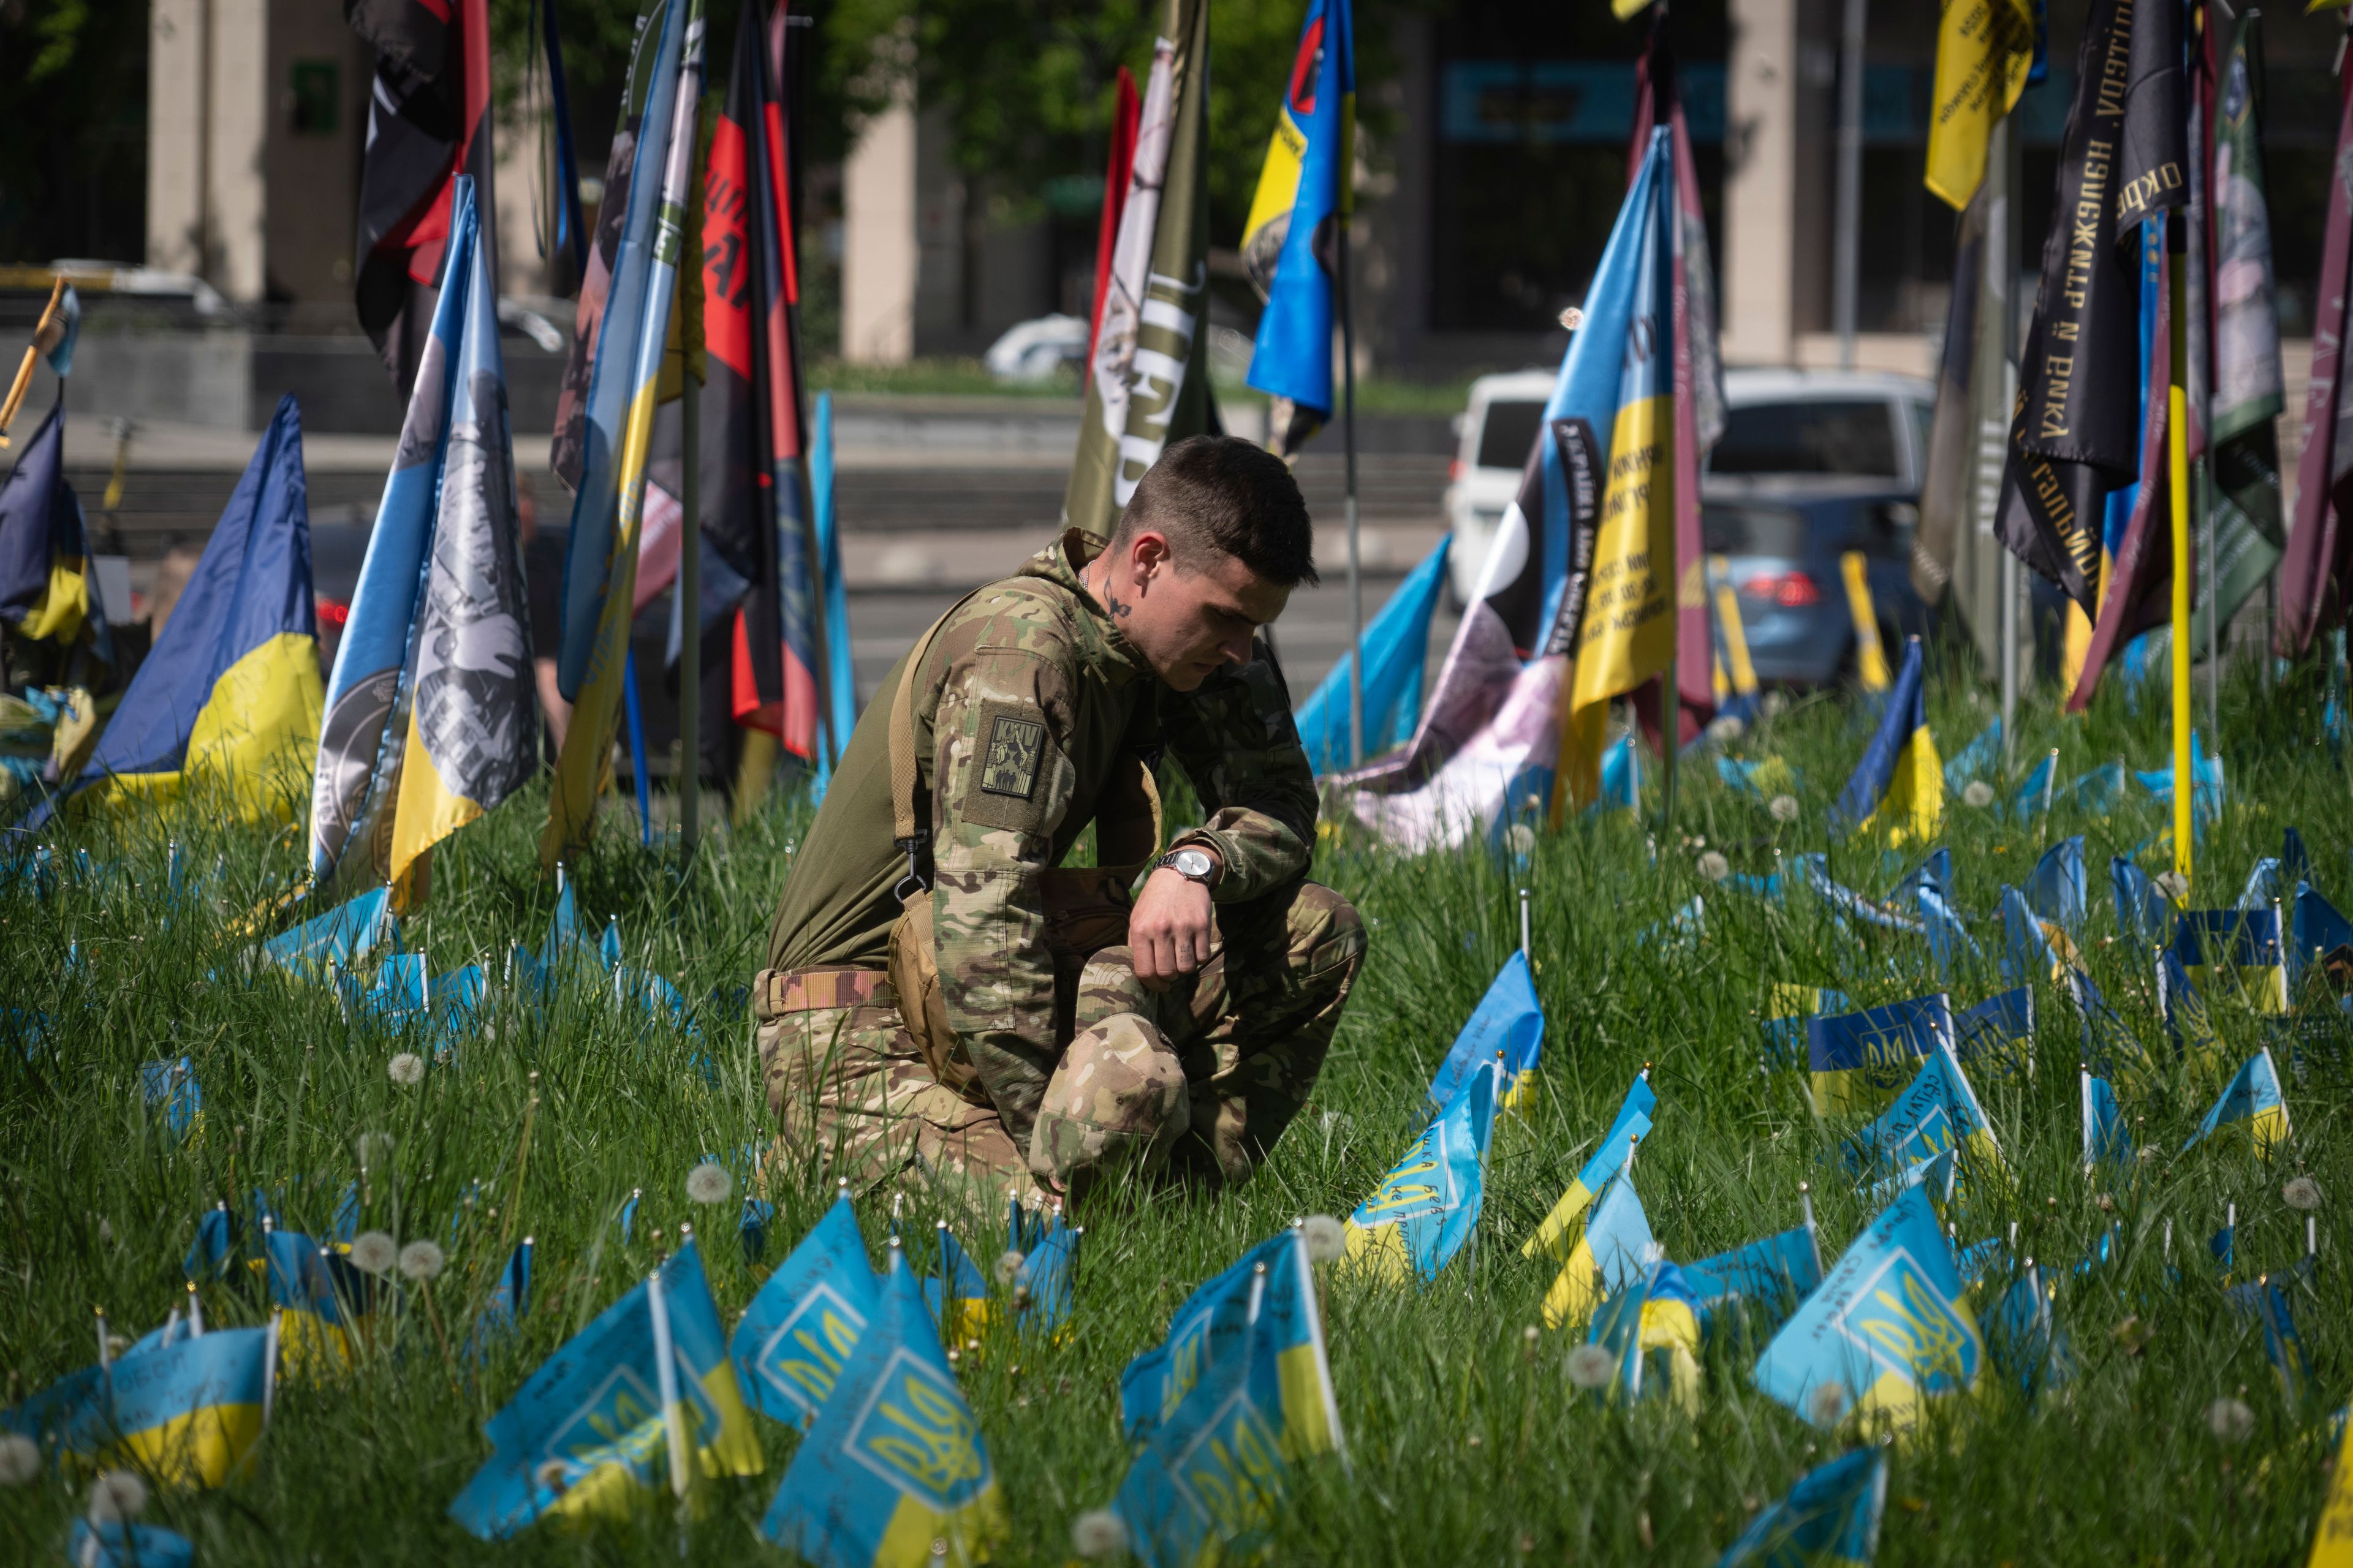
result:
[[(565, 646), (555, 670), (558, 689), (572, 698), (572, 726), (565, 731), (565, 752), (548, 795), (548, 827), (539, 839), (541, 865), (555, 865), (588, 837), (621, 703), (645, 465), (652, 454), (671, 296), (678, 289), (680, 230), (704, 78), (701, 0), (671, 0), (671, 9), (659, 59), (675, 66), (656, 63), (647, 96), (628, 228), (621, 235), (619, 270), (605, 306), (598, 367), (588, 390), (588, 468), (572, 505)], [(659, 146), (656, 125), (664, 127)], [(647, 179), (652, 169), (661, 169), (659, 181)]]

